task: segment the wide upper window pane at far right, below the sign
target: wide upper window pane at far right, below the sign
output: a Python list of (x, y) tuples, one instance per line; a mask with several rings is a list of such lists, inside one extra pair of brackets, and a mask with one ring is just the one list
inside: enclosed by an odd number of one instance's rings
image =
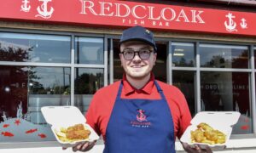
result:
[(246, 46), (200, 44), (201, 67), (248, 68)]

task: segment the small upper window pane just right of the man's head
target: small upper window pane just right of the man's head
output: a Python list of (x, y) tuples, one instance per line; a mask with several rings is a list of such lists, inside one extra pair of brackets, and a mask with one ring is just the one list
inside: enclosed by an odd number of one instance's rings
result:
[(194, 67), (195, 45), (189, 42), (172, 42), (172, 66)]

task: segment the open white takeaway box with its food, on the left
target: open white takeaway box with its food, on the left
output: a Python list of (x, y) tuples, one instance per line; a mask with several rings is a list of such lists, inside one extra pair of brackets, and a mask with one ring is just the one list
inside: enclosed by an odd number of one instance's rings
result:
[[(84, 115), (75, 106), (44, 106), (41, 111), (45, 121), (52, 125), (51, 130), (62, 147), (72, 147), (79, 142), (99, 139), (93, 128), (86, 124)], [(67, 134), (69, 134), (68, 138), (73, 139), (67, 139)], [(78, 136), (79, 139), (73, 135)]]

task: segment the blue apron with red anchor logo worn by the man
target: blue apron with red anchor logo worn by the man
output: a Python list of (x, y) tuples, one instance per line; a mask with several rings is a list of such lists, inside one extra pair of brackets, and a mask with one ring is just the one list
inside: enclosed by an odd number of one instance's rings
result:
[(154, 83), (161, 99), (121, 99), (120, 83), (103, 153), (175, 153), (172, 113), (159, 84)]

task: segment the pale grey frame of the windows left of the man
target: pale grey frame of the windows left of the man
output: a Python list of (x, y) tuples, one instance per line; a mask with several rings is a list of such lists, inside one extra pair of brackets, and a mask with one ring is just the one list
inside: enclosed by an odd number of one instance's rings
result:
[[(34, 35), (52, 35), (70, 37), (70, 63), (44, 63), (44, 62), (15, 62), (15, 61), (0, 61), (0, 65), (9, 66), (39, 66), (39, 67), (67, 67), (71, 69), (71, 92), (70, 92), (70, 105), (74, 105), (74, 71), (76, 68), (96, 68), (103, 69), (104, 86), (108, 85), (108, 38), (103, 34), (91, 34), (81, 32), (65, 32), (65, 31), (39, 31), (39, 30), (21, 30), (13, 28), (0, 28), (0, 32), (4, 33), (17, 33), (17, 34), (34, 34)], [(103, 64), (76, 64), (75, 63), (75, 37), (95, 37), (103, 39)], [(103, 144), (103, 143), (102, 143)], [(49, 147), (59, 146), (57, 141), (40, 141), (40, 142), (13, 142), (13, 143), (0, 143), (0, 148), (31, 148), (31, 147)]]

